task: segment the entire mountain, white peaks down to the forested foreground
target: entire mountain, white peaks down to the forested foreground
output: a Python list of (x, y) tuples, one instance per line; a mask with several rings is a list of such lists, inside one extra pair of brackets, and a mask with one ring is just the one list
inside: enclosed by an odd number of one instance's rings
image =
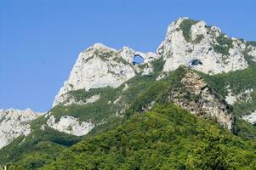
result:
[(152, 168), (213, 163), (212, 169), (252, 169), (255, 76), (256, 42), (230, 38), (204, 21), (174, 21), (156, 53), (96, 43), (79, 54), (53, 108), (27, 123), (30, 133), (13, 135), (0, 150), (0, 165), (149, 168), (141, 167), (144, 156), (154, 159), (168, 147), (171, 155), (152, 161)]

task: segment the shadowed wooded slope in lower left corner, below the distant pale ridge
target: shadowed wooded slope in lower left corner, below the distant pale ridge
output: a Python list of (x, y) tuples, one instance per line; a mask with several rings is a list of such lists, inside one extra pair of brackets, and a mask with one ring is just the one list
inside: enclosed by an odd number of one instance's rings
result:
[[(23, 159), (25, 169), (42, 167), (54, 160), (66, 147), (76, 144), (80, 138), (60, 133), (52, 128), (36, 130), (28, 136), (20, 136), (0, 152), (2, 165)], [(31, 159), (33, 157), (33, 159)], [(28, 166), (28, 167), (26, 167)]]

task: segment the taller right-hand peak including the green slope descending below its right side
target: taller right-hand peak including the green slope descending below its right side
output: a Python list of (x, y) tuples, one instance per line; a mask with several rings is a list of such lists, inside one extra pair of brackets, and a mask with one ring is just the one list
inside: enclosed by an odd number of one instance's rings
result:
[(202, 20), (180, 18), (168, 26), (157, 52), (165, 60), (163, 73), (179, 65), (205, 73), (214, 93), (233, 106), (236, 116), (255, 123), (256, 42), (230, 38)]

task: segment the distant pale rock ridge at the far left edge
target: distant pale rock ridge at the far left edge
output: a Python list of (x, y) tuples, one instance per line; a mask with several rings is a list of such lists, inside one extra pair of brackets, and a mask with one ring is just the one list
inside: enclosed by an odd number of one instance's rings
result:
[(18, 138), (21, 134), (31, 133), (32, 120), (42, 114), (27, 109), (20, 110), (0, 110), (0, 149)]

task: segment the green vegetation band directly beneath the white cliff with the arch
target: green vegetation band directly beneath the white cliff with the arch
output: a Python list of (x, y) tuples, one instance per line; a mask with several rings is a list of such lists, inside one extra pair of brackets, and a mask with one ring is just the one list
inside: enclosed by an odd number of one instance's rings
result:
[[(145, 88), (151, 86), (151, 83), (156, 82), (156, 77), (162, 71), (163, 61), (157, 59), (151, 63), (154, 66), (154, 71), (150, 75), (137, 75), (128, 80), (119, 88), (94, 88), (88, 92), (84, 89), (69, 92), (69, 96), (77, 101), (86, 101), (86, 99), (100, 95), (100, 99), (94, 103), (87, 105), (57, 105), (51, 110), (51, 115), (55, 116), (57, 121), (61, 116), (74, 116), (80, 121), (90, 121), (96, 124), (107, 122), (109, 118), (116, 116), (117, 112), (122, 111), (132, 102)], [(126, 85), (125, 85), (126, 84)], [(124, 88), (128, 86), (126, 90)], [(118, 102), (114, 102), (118, 99)]]

